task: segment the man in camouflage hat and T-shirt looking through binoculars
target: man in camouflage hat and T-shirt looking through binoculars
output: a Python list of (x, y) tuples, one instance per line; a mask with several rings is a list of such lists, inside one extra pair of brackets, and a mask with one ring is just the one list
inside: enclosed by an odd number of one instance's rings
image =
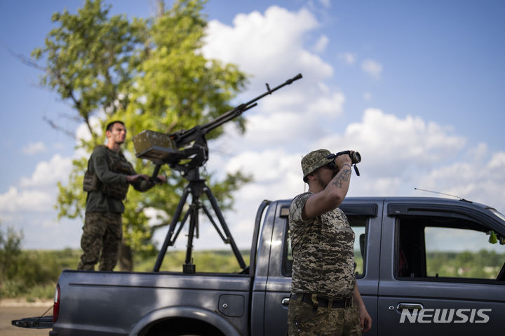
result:
[(348, 154), (318, 149), (302, 159), (309, 191), (290, 206), (289, 335), (361, 335), (372, 326), (354, 274), (354, 231), (338, 207), (351, 180)]

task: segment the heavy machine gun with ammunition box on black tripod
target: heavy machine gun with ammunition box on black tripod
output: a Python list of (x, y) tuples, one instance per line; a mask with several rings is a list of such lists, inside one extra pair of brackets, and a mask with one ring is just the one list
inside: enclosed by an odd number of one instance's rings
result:
[[(133, 143), (135, 145), (135, 152), (137, 157), (140, 159), (149, 159), (156, 165), (152, 174), (152, 179), (156, 179), (156, 176), (158, 175), (159, 170), (163, 164), (168, 164), (168, 166), (170, 166), (170, 168), (173, 170), (179, 171), (182, 177), (188, 181), (187, 187), (184, 188), (180, 201), (177, 204), (177, 208), (173, 215), (172, 221), (168, 227), (168, 233), (166, 235), (165, 241), (163, 241), (163, 246), (161, 246), (158, 258), (156, 259), (156, 264), (154, 264), (154, 271), (159, 271), (161, 262), (163, 262), (163, 257), (166, 255), (168, 246), (173, 246), (175, 244), (177, 236), (179, 236), (180, 231), (184, 227), (184, 223), (189, 217), (186, 260), (182, 265), (182, 271), (187, 274), (195, 272), (195, 265), (191, 259), (191, 253), (193, 249), (193, 239), (195, 237), (195, 232), (196, 238), (198, 238), (198, 212), (200, 209), (203, 210), (203, 212), (206, 214), (210, 222), (213, 224), (213, 227), (215, 227), (217, 234), (220, 235), (224, 243), (230, 244), (231, 250), (233, 250), (238, 264), (240, 265), (241, 269), (246, 271), (246, 265), (243, 261), (243, 257), (236, 246), (234, 238), (231, 236), (231, 232), (229, 231), (226, 222), (224, 221), (224, 217), (217, 204), (215, 196), (213, 195), (212, 191), (210, 191), (210, 188), (206, 185), (205, 180), (201, 179), (200, 177), (199, 168), (208, 161), (208, 146), (206, 135), (211, 130), (221, 126), (227, 121), (231, 121), (231, 119), (234, 119), (237, 116), (240, 116), (248, 109), (255, 107), (257, 105), (257, 100), (262, 99), (266, 95), (271, 95), (271, 93), (274, 93), (274, 91), (301, 78), (302, 74), (297, 74), (297, 76), (293, 77), (292, 79), (288, 79), (285, 81), (285, 83), (282, 83), (275, 88), (270, 88), (269, 84), (267, 83), (266, 93), (257, 96), (253, 100), (238, 105), (234, 109), (231, 109), (229, 112), (218, 116), (216, 119), (213, 119), (206, 124), (195, 126), (189, 130), (179, 130), (171, 134), (154, 132), (152, 130), (144, 130), (133, 137)], [(175, 231), (177, 222), (179, 222), (182, 215), (184, 204), (186, 203), (187, 197), (190, 194), (191, 205), (189, 206), (187, 213), (180, 221), (177, 231)], [(206, 206), (200, 201), (200, 197), (203, 194), (206, 194), (207, 199), (210, 201), (217, 220), (219, 220), (221, 224), (222, 231), (217, 226), (215, 220), (213, 219), (212, 215), (210, 215), (210, 212)]]

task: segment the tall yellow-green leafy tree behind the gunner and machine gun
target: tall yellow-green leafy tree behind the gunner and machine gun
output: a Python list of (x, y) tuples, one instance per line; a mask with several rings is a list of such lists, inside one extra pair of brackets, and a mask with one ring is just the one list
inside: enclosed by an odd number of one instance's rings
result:
[[(223, 65), (201, 54), (206, 28), (202, 0), (177, 0), (169, 11), (157, 2), (154, 18), (128, 20), (124, 15), (109, 17), (110, 6), (100, 0), (87, 0), (76, 15), (55, 13), (58, 27), (46, 37), (44, 48), (32, 55), (46, 60), (41, 83), (72, 102), (77, 117), (88, 125), (90, 140), (81, 140), (80, 149), (90, 153), (105, 141), (101, 131), (108, 121), (121, 119), (130, 134), (145, 129), (172, 133), (206, 123), (231, 109), (229, 101), (244, 88), (245, 74), (235, 65)], [(93, 128), (91, 116), (100, 116), (100, 129)], [(243, 120), (236, 124), (243, 130)], [(208, 139), (218, 137), (216, 129)], [(133, 158), (133, 143), (126, 142)], [(152, 173), (149, 161), (133, 160), (138, 173)], [(86, 195), (82, 191), (87, 158), (74, 160), (67, 185), (59, 184), (57, 208), (60, 217), (83, 217)], [(123, 215), (123, 269), (129, 269), (128, 251), (152, 252), (154, 228), (171, 220), (184, 180), (169, 174), (169, 184), (146, 193), (130, 191)], [(231, 191), (248, 182), (236, 173), (208, 184), (225, 209), (232, 205)], [(161, 210), (156, 227), (149, 227), (147, 208)], [(123, 258), (126, 256), (126, 259)], [(121, 262), (120, 260), (120, 262)]]

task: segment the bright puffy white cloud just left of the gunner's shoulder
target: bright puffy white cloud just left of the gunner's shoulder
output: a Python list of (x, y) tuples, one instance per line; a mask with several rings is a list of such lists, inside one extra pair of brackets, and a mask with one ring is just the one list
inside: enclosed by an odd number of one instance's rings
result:
[(37, 164), (31, 177), (21, 177), (21, 187), (47, 187), (54, 186), (56, 182), (68, 180), (72, 170), (72, 159), (56, 154), (50, 161), (41, 161)]

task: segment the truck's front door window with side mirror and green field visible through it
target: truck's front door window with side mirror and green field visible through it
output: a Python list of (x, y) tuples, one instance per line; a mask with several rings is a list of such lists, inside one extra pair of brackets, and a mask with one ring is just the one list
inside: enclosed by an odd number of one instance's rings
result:
[(497, 281), (505, 262), (499, 232), (457, 217), (410, 217), (397, 223), (398, 278)]

